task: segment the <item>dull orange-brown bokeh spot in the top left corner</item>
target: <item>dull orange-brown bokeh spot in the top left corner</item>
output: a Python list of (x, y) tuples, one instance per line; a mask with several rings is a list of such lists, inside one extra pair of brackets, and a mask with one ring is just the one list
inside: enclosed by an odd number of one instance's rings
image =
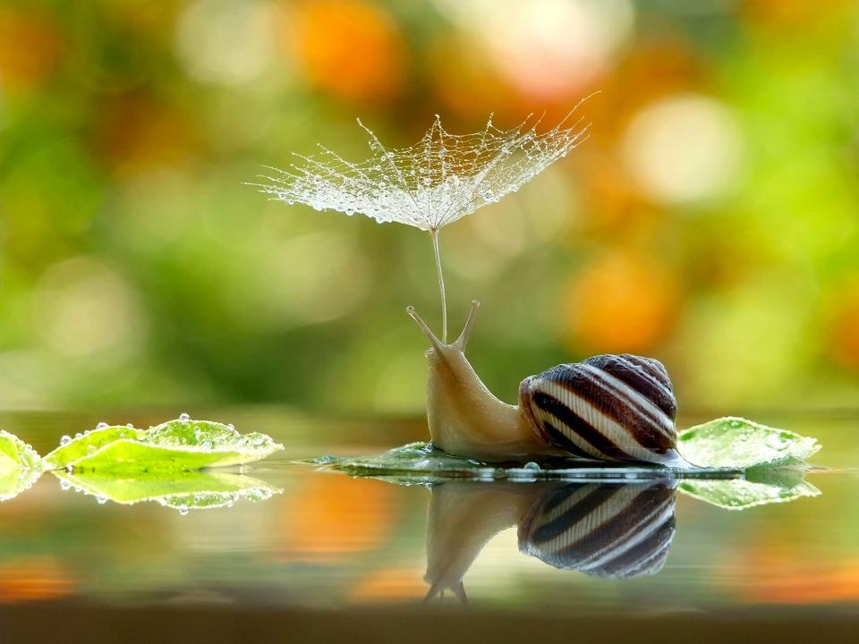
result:
[(54, 71), (61, 39), (49, 16), (0, 8), (0, 82), (29, 88)]

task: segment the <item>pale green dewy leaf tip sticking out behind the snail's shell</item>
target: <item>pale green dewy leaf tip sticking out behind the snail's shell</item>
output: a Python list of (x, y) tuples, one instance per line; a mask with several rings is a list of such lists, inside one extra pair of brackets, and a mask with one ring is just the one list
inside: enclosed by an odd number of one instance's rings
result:
[(710, 420), (677, 436), (677, 451), (699, 467), (776, 467), (803, 462), (821, 448), (814, 438), (741, 418)]

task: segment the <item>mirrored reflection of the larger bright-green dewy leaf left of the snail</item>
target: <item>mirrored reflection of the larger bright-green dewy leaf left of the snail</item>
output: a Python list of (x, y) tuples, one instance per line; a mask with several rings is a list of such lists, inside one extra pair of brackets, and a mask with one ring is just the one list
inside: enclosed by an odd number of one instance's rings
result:
[(282, 490), (243, 474), (186, 471), (168, 476), (140, 473), (134, 478), (84, 471), (70, 474), (55, 470), (63, 487), (95, 496), (100, 503), (118, 504), (155, 501), (180, 512), (232, 506), (240, 499), (264, 501)]

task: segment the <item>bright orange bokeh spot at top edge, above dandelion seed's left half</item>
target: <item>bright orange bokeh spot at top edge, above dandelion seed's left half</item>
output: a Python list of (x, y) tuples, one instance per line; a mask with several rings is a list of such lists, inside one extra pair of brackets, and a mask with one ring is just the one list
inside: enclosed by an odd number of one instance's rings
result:
[(299, 4), (293, 47), (310, 83), (337, 97), (381, 101), (403, 85), (404, 38), (378, 7), (357, 0)]

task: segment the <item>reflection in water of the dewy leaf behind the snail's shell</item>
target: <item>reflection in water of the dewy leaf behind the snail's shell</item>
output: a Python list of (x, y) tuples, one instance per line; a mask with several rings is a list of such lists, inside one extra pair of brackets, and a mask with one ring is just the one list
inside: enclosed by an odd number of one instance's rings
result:
[(821, 491), (804, 480), (793, 486), (758, 483), (746, 479), (685, 479), (678, 489), (689, 496), (727, 510), (744, 510), (755, 505), (787, 503), (804, 496), (819, 496)]

